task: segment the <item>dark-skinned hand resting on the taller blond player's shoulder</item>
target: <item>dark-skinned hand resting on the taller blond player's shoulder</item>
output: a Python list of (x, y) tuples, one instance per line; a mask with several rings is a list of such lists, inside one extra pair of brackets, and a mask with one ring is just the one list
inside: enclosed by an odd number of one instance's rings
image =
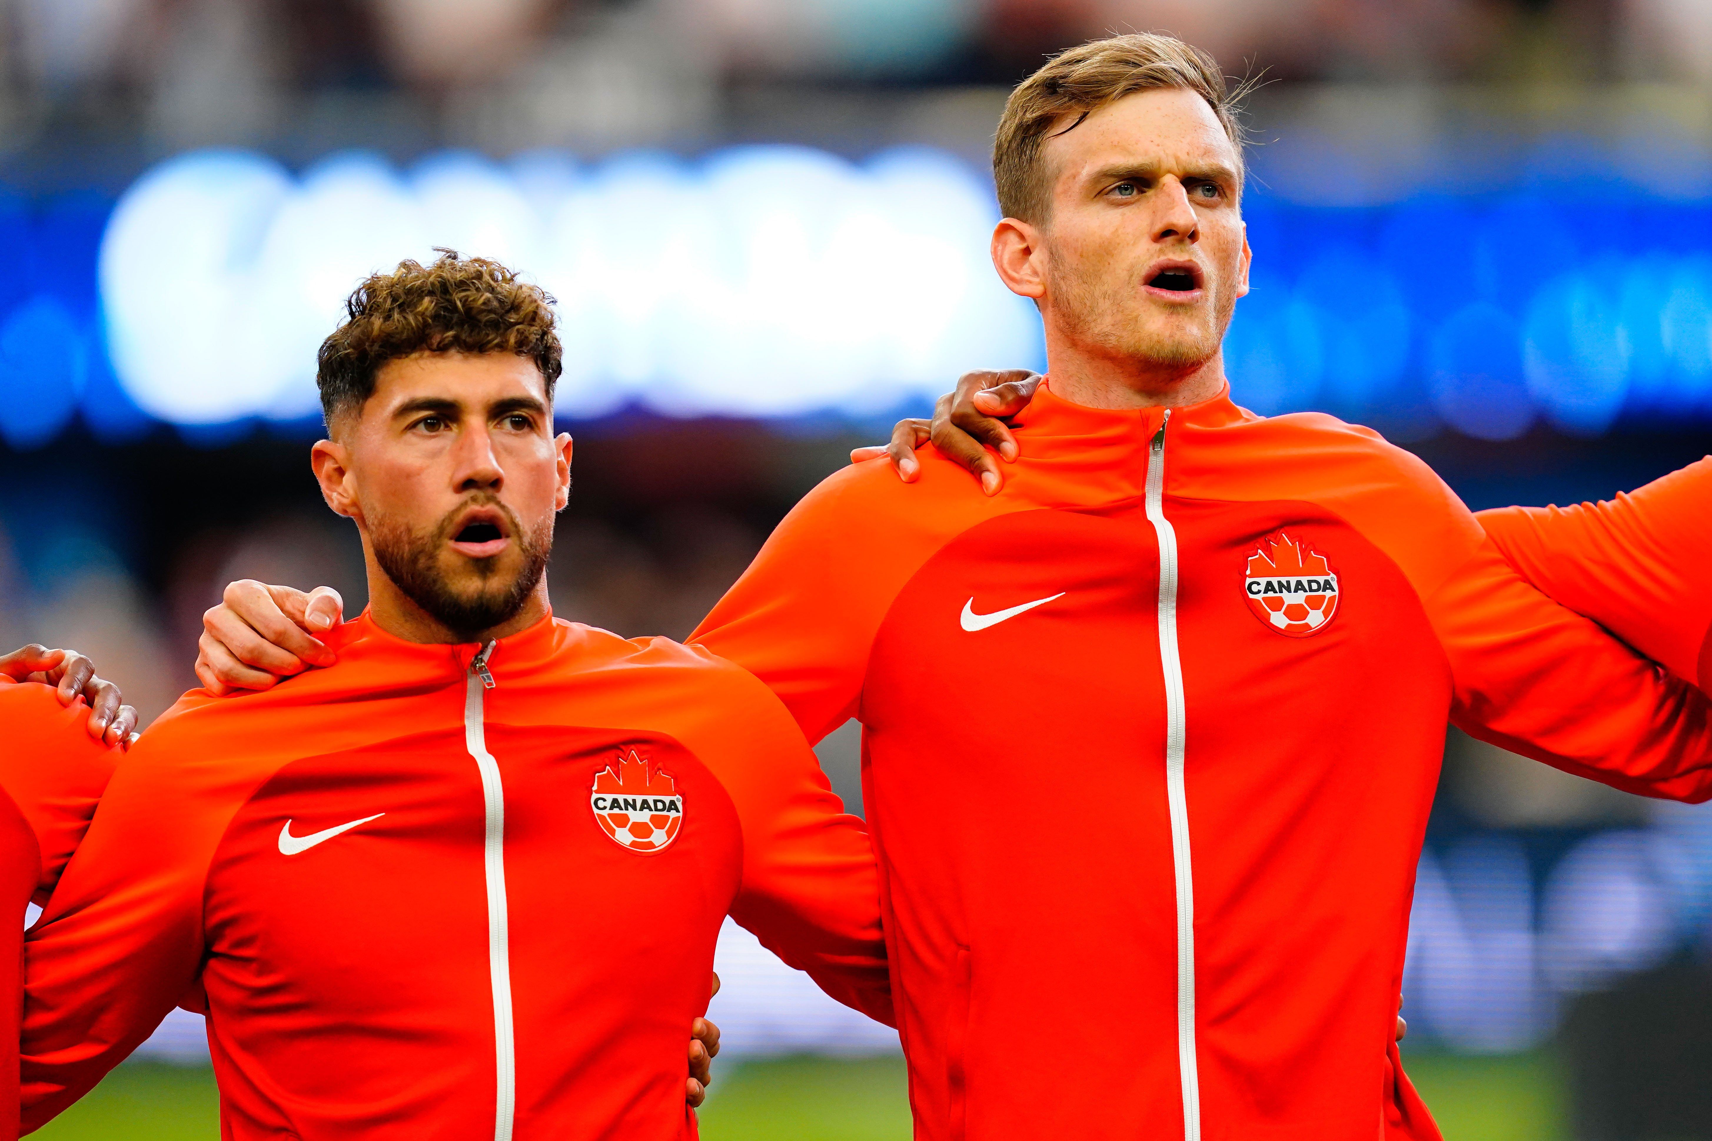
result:
[(897, 421), (892, 443), (856, 448), (851, 464), (890, 457), (899, 479), (911, 484), (921, 476), (916, 448), (931, 441), (940, 455), (976, 476), (981, 491), (998, 494), (1005, 477), (993, 457), (1014, 464), (1022, 455), (1005, 419), (1027, 407), (1039, 383), (1041, 375), (1025, 368), (964, 373), (957, 378), (957, 390), (933, 404), (931, 421)]

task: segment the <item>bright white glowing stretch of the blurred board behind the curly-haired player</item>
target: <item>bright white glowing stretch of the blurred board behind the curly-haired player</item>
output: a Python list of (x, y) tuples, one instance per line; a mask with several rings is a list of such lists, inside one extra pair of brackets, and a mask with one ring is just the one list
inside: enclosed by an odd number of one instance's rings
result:
[(315, 351), (368, 274), (433, 246), (495, 257), (560, 304), (558, 409), (675, 416), (868, 412), (966, 368), (1037, 363), (995, 279), (986, 185), (911, 149), (858, 166), (736, 147), (698, 166), (625, 154), (579, 169), (447, 152), (401, 178), (370, 154), (298, 180), (193, 154), (140, 180), (103, 246), (115, 369), (178, 423), (315, 409)]

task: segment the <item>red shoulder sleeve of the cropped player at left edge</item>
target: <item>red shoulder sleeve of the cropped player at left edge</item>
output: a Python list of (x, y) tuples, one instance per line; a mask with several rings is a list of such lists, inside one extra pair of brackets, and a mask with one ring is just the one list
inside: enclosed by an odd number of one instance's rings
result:
[(0, 787), (41, 847), (34, 902), (43, 905), (84, 838), (120, 749), (89, 736), (89, 706), (60, 705), (51, 686), (0, 679)]

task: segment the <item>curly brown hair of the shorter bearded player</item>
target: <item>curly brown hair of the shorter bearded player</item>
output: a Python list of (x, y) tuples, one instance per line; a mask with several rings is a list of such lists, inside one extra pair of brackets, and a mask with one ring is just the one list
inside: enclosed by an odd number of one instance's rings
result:
[(491, 258), (435, 246), (433, 265), (399, 262), (346, 298), (346, 320), (322, 342), (315, 383), (322, 416), (360, 412), (387, 361), (418, 352), (512, 352), (534, 361), (548, 404), (563, 369), (553, 298)]

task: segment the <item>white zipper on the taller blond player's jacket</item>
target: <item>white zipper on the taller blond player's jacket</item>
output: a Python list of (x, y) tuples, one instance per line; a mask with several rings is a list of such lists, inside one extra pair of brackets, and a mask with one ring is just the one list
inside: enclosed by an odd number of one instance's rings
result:
[(1195, 871), (1188, 854), (1183, 792), (1183, 657), (1176, 641), (1176, 529), (1166, 518), (1166, 426), (1147, 448), (1147, 520), (1159, 537), (1159, 665), (1166, 681), (1166, 804), (1171, 809), (1171, 867), (1178, 891), (1178, 1076), (1183, 1081), (1183, 1141), (1200, 1141), (1200, 1074), (1195, 1062)]

